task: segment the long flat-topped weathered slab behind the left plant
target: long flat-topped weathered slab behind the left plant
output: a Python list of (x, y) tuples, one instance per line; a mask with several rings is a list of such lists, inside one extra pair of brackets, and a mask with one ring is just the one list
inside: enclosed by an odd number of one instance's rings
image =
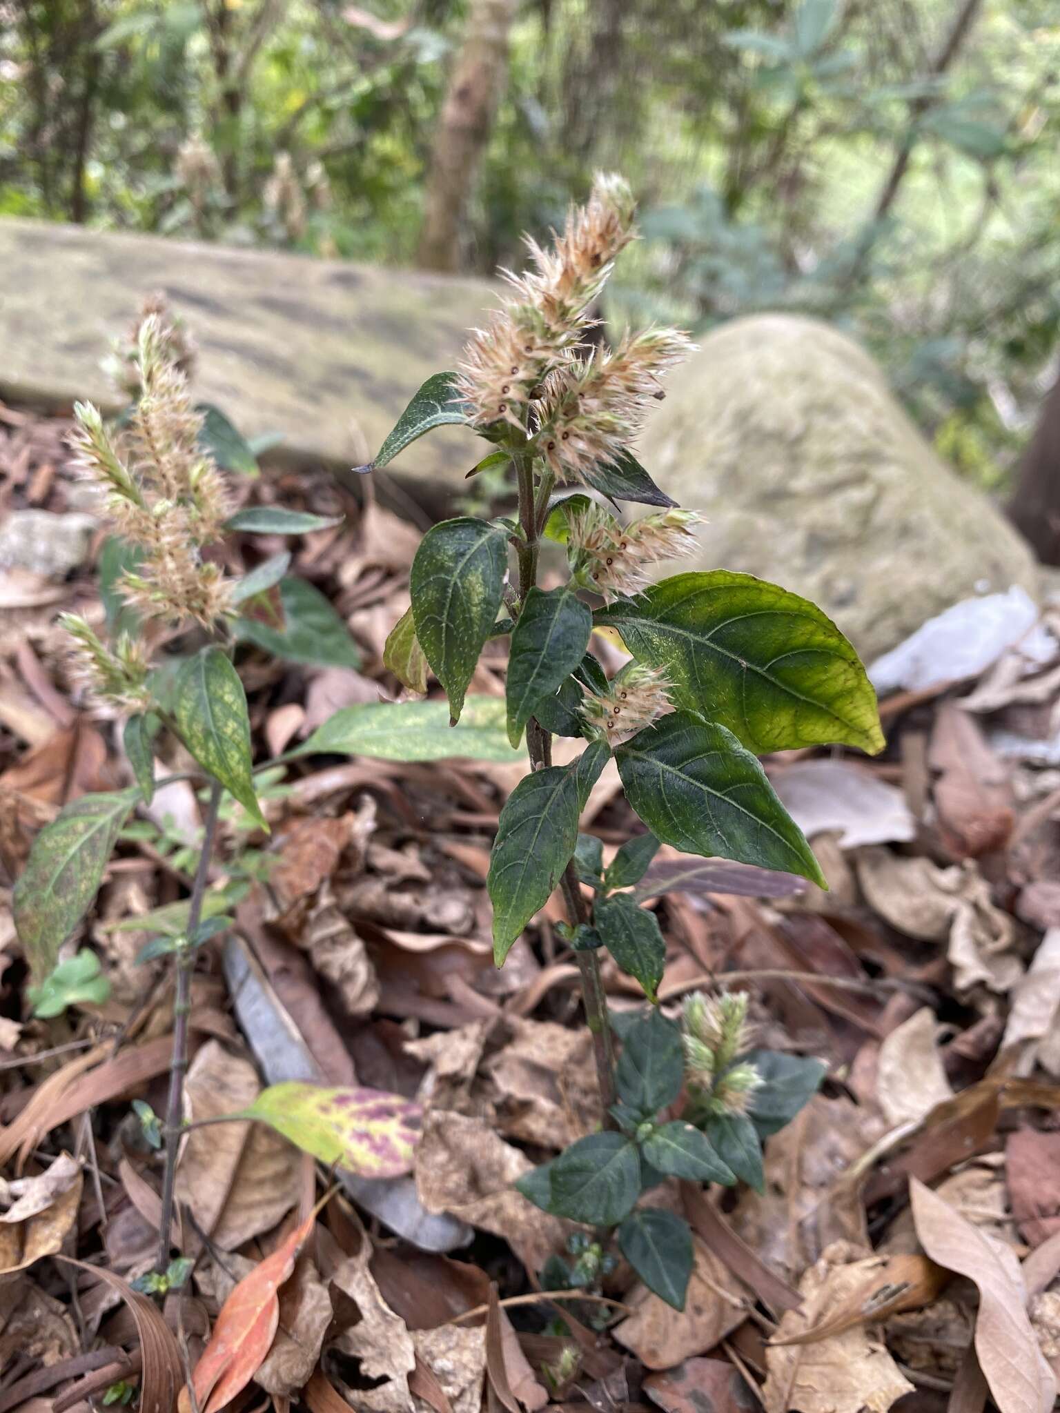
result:
[[(199, 346), (196, 396), (247, 437), (281, 434), (280, 455), (336, 466), (367, 461), (493, 302), (482, 280), (20, 219), (0, 220), (0, 397), (116, 411), (100, 362), (163, 290)], [(445, 427), (387, 473), (444, 502), (481, 455)]]

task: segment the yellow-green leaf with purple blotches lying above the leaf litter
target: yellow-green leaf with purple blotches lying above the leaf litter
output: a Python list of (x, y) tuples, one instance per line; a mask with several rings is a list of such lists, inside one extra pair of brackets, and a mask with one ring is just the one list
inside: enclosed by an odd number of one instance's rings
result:
[(397, 1094), (288, 1081), (261, 1089), (239, 1115), (260, 1119), (326, 1166), (360, 1177), (400, 1177), (413, 1166), (423, 1111)]

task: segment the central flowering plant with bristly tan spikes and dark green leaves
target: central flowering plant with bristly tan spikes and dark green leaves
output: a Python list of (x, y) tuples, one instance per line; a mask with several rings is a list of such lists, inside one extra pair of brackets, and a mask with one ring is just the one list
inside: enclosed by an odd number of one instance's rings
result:
[[(462, 422), (495, 445), (473, 471), (510, 466), (514, 475), (516, 519), (461, 516), (423, 537), (411, 608), (386, 660), (417, 691), (430, 666), (455, 725), (486, 642), (509, 639), (506, 725), (513, 746), (526, 739), (530, 770), (500, 811), (490, 858), (495, 959), (503, 965), (558, 887), (603, 1125), (519, 1187), (558, 1217), (616, 1226), (644, 1283), (683, 1308), (688, 1224), (640, 1204), (642, 1193), (667, 1176), (760, 1187), (762, 1137), (806, 1102), (823, 1067), (752, 1051), (746, 996), (693, 996), (683, 1026), (667, 1019), (659, 1009), (664, 940), (643, 906), (664, 886), (636, 886), (660, 842), (825, 886), (756, 753), (825, 742), (875, 752), (883, 738), (856, 653), (813, 603), (724, 569), (652, 581), (657, 564), (695, 548), (698, 519), (660, 490), (630, 444), (666, 373), (693, 345), (677, 329), (653, 328), (612, 349), (591, 346), (594, 301), (633, 237), (629, 188), (598, 177), (551, 249), (529, 242), (530, 270), (506, 274), (502, 308), (473, 333), (457, 370), (420, 389), (360, 469), (384, 466), (434, 427)], [(625, 521), (618, 502), (650, 510)], [(544, 538), (565, 547), (570, 571), (550, 589), (537, 582)], [(611, 678), (589, 651), (596, 627), (612, 629), (630, 653)], [(585, 742), (572, 764), (553, 763), (554, 736)], [(647, 832), (605, 869), (601, 841), (581, 835), (578, 820), (612, 757)], [(646, 1015), (608, 1015), (603, 952), (640, 982)], [(670, 1116), (681, 1095), (680, 1116)], [(596, 1275), (603, 1269), (602, 1259), (591, 1265)], [(585, 1269), (582, 1258), (571, 1282)]]

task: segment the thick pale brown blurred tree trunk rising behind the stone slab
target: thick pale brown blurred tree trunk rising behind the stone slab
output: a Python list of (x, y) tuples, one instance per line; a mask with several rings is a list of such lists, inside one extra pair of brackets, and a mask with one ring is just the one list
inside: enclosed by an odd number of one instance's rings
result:
[(461, 233), (507, 76), (516, 0), (471, 0), (427, 174), (427, 212), (417, 259), (427, 270), (459, 268)]

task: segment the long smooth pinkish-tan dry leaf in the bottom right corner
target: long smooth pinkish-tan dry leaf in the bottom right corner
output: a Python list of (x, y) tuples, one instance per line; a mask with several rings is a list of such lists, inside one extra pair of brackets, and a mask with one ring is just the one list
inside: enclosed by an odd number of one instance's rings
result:
[(931, 1260), (967, 1276), (979, 1291), (975, 1354), (1001, 1413), (1049, 1413), (1056, 1379), (1027, 1318), (1015, 1255), (917, 1178), (910, 1178), (909, 1198), (916, 1234)]

